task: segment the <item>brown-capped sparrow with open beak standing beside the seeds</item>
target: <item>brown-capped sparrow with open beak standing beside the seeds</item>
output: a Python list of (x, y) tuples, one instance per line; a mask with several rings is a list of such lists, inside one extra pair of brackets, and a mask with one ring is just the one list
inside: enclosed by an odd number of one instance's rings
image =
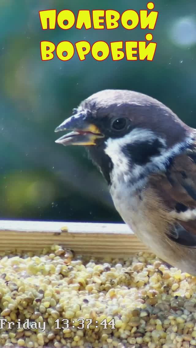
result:
[(196, 276), (196, 129), (146, 94), (106, 89), (82, 101), (55, 132), (84, 145), (114, 206), (149, 250)]

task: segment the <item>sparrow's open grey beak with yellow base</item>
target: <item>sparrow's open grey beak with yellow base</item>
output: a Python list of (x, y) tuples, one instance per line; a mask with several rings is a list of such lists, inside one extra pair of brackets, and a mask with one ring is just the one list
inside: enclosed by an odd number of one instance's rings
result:
[(103, 138), (99, 128), (89, 123), (84, 115), (78, 113), (66, 119), (60, 126), (56, 127), (55, 132), (61, 130), (72, 130), (59, 139), (55, 143), (66, 145), (96, 145), (95, 140)]

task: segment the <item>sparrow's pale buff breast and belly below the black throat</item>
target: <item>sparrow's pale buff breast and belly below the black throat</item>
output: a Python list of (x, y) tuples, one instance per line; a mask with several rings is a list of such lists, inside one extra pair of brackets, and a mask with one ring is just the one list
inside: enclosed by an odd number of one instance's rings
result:
[(110, 192), (122, 219), (149, 250), (172, 266), (196, 274), (195, 250), (179, 246), (167, 237), (174, 219), (148, 183), (140, 191), (120, 183), (112, 185)]

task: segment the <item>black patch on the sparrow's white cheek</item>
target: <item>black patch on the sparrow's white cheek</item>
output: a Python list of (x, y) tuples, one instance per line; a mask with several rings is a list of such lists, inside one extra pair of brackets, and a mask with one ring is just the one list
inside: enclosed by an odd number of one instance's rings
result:
[(153, 142), (140, 141), (133, 144), (127, 144), (123, 147), (125, 155), (130, 155), (134, 164), (140, 166), (151, 162), (151, 157), (159, 156), (163, 144), (155, 139)]

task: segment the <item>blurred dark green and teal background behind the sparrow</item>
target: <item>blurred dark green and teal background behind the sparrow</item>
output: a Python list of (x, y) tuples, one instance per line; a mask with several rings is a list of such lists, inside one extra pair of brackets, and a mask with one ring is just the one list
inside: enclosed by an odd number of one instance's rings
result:
[(157, 98), (196, 127), (196, 3), (154, 0), (154, 61), (77, 55), (42, 62), (40, 41), (139, 41), (149, 30), (41, 29), (39, 10), (147, 9), (146, 0), (0, 0), (0, 218), (121, 221), (85, 149), (55, 144), (54, 129), (81, 100), (106, 88)]

